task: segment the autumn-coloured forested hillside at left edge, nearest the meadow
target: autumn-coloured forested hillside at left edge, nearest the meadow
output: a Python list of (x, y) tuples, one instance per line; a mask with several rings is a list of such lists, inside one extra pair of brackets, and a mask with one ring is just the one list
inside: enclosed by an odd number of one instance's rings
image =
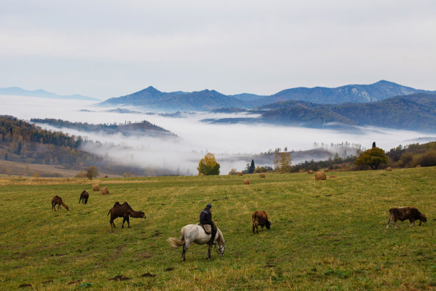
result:
[[(16, 117), (0, 115), (0, 159), (27, 164), (46, 164), (75, 169), (98, 166), (100, 172), (143, 176), (145, 171), (133, 166), (121, 166), (95, 154), (84, 152), (81, 145), (87, 142), (81, 136), (41, 129)], [(8, 173), (0, 167), (0, 174)], [(161, 174), (159, 171), (154, 171)], [(33, 174), (33, 173), (30, 173)]]

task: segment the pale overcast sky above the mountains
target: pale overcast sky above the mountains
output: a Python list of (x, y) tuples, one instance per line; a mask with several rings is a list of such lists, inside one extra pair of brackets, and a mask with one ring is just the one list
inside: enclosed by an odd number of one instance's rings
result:
[(0, 0), (0, 88), (436, 90), (436, 1)]

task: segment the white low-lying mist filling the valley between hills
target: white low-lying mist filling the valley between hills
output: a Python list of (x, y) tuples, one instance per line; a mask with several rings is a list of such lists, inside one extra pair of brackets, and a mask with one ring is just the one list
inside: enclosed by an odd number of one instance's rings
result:
[[(150, 167), (168, 169), (174, 174), (197, 174), (199, 159), (207, 152), (215, 154), (217, 162), (221, 164), (221, 173), (227, 174), (232, 168), (244, 169), (255, 154), (274, 151), (276, 148), (283, 150), (287, 147), (288, 151), (303, 151), (313, 149), (315, 143), (320, 147), (321, 144), (341, 144), (341, 142), (361, 144), (363, 148), (369, 148), (373, 142), (376, 142), (378, 147), (388, 150), (399, 144), (410, 144), (411, 140), (425, 137), (425, 134), (419, 132), (376, 127), (358, 127), (355, 132), (341, 132), (333, 129), (274, 125), (212, 125), (200, 122), (200, 120), (235, 117), (236, 114), (217, 115), (196, 112), (182, 113), (180, 117), (167, 117), (144, 113), (117, 113), (107, 112), (113, 107), (96, 107), (93, 102), (83, 100), (0, 95), (0, 102), (2, 104), (1, 115), (13, 115), (24, 120), (55, 118), (94, 124), (147, 120), (170, 130), (177, 134), (177, 137), (160, 139), (145, 135), (125, 136), (102, 132), (78, 132), (68, 128), (61, 130), (100, 142), (84, 144), (83, 150), (85, 151), (113, 159), (120, 164), (139, 166), (144, 169)], [(138, 109), (135, 108), (135, 110)], [(60, 130), (47, 125), (39, 126)], [(329, 150), (331, 155), (335, 154), (334, 148), (329, 148)], [(347, 154), (354, 153), (348, 152)], [(325, 157), (312, 157), (312, 159), (327, 159), (329, 155), (326, 153)], [(302, 160), (294, 158), (292, 164), (303, 162), (304, 159), (310, 160), (311, 157), (304, 157)], [(254, 162), (259, 166), (273, 164), (272, 159), (268, 163), (265, 160), (256, 162), (256, 159)]]

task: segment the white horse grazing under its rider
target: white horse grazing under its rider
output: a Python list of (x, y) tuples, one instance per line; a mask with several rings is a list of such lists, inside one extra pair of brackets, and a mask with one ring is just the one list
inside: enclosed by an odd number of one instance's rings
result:
[[(197, 245), (204, 245), (205, 243), (209, 243), (209, 240), (212, 235), (207, 234), (202, 226), (197, 224), (188, 224), (187, 226), (182, 227), (180, 231), (180, 239), (177, 238), (168, 238), (168, 242), (172, 246), (172, 248), (178, 248), (183, 245), (182, 250), (182, 262), (185, 260), (185, 253), (187, 249), (190, 247), (191, 243), (197, 243)], [(217, 234), (214, 238), (215, 248), (217, 248), (217, 253), (220, 257), (224, 256), (224, 244), (226, 241), (222, 236), (222, 232), (217, 228)], [(207, 250), (207, 259), (210, 258), (210, 253), (212, 252), (212, 244), (209, 244), (209, 250)]]

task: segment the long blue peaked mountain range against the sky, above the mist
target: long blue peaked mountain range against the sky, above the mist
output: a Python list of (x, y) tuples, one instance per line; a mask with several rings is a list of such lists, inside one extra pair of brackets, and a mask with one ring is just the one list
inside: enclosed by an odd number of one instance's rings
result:
[(150, 86), (129, 95), (110, 98), (100, 105), (140, 106), (162, 111), (209, 111), (222, 107), (249, 109), (289, 100), (316, 104), (366, 103), (417, 92), (436, 94), (436, 91), (419, 90), (385, 80), (370, 85), (345, 85), (338, 88), (291, 88), (268, 96), (248, 93), (224, 95), (215, 90), (161, 92)]

